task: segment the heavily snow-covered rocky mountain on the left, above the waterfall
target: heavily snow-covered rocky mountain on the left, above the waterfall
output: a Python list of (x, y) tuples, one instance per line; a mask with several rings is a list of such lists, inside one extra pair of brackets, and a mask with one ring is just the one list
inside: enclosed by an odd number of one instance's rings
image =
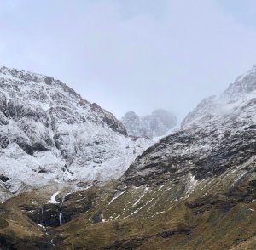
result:
[(0, 190), (117, 178), (148, 145), (61, 81), (0, 69)]

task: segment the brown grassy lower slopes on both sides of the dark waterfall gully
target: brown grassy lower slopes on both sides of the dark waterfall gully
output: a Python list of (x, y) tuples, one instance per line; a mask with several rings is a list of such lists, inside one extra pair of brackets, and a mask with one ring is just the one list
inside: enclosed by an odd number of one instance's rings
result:
[[(256, 175), (240, 178), (240, 171), (229, 171), (197, 183), (183, 176), (165, 185), (131, 186), (121, 195), (119, 182), (77, 192), (65, 206), (78, 209), (85, 205), (79, 202), (84, 197), (93, 199), (92, 206), (50, 229), (55, 249), (255, 249), (256, 187), (250, 181)], [(16, 249), (27, 248), (25, 240), (29, 249), (53, 247), (43, 243), (49, 240), (45, 233), (20, 209), (21, 204), (39, 206), (49, 199), (49, 194), (38, 193), (0, 206), (0, 236)], [(96, 223), (99, 218), (104, 222)]]

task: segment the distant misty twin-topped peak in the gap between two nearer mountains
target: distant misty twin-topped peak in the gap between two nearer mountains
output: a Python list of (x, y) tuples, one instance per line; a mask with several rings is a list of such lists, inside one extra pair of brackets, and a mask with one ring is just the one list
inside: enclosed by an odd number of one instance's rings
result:
[(154, 138), (165, 135), (177, 125), (176, 116), (165, 110), (155, 110), (148, 116), (137, 116), (134, 111), (129, 111), (121, 119), (127, 133), (136, 137)]

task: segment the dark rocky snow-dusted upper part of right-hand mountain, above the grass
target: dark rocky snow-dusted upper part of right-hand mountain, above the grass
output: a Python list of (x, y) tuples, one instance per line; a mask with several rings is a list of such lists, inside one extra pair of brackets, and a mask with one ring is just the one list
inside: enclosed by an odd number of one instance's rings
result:
[[(125, 173), (132, 182), (207, 179), (253, 168), (256, 154), (256, 66), (223, 94), (204, 99), (182, 128), (148, 148)], [(163, 175), (162, 175), (163, 174)]]

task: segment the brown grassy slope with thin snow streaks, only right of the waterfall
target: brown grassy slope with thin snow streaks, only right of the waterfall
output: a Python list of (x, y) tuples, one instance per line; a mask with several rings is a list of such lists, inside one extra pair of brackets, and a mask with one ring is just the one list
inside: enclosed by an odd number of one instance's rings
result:
[[(56, 232), (65, 249), (229, 249), (242, 242), (242, 247), (246, 242), (251, 246), (256, 202), (248, 182), (255, 177), (240, 180), (229, 192), (236, 172), (202, 181), (195, 190), (184, 185), (185, 179), (147, 191), (145, 186), (130, 188), (108, 205), (110, 191), (94, 209)], [(96, 213), (106, 221), (91, 224)]]

